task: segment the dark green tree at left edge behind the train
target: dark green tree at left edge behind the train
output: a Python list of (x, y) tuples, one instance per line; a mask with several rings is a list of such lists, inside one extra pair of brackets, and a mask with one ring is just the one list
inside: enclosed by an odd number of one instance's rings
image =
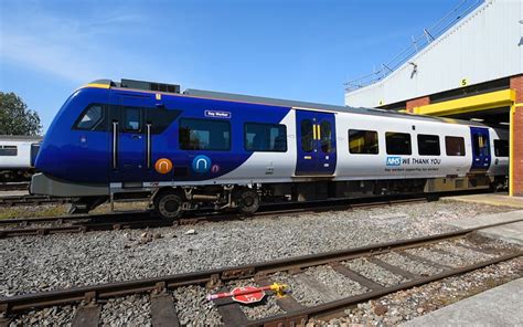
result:
[(0, 92), (0, 135), (40, 135), (42, 125), (36, 112), (14, 93)]

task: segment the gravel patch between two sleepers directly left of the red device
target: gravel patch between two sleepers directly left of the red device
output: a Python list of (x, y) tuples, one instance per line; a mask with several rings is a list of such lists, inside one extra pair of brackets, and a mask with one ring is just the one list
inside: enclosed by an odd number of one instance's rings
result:
[(182, 326), (218, 326), (222, 318), (212, 302), (206, 299), (204, 287), (186, 286), (172, 292), (175, 298), (178, 319)]

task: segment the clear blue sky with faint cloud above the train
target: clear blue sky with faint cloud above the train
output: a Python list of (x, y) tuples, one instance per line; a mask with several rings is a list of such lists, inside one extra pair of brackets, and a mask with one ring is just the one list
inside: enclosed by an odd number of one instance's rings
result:
[(0, 0), (0, 91), (44, 130), (95, 80), (343, 105), (462, 0)]

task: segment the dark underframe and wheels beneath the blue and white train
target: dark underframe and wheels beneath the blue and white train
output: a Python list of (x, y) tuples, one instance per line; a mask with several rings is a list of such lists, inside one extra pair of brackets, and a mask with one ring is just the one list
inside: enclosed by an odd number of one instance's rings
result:
[(467, 177), (394, 179), (361, 181), (310, 181), (289, 183), (224, 184), (204, 187), (163, 187), (153, 191), (111, 193), (109, 197), (83, 197), (71, 205), (70, 213), (86, 213), (109, 201), (149, 199), (150, 207), (163, 219), (177, 219), (196, 210), (237, 210), (253, 214), (262, 203), (310, 202), (362, 199), (401, 194), (436, 194), (468, 190), (501, 190), (506, 177), (470, 173)]

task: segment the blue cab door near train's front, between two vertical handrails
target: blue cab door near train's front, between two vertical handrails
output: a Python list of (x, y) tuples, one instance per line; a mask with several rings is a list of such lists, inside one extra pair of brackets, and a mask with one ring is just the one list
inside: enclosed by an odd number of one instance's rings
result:
[(150, 125), (145, 108), (151, 107), (146, 97), (117, 96), (119, 105), (111, 106), (111, 165), (115, 182), (139, 182), (149, 178)]

